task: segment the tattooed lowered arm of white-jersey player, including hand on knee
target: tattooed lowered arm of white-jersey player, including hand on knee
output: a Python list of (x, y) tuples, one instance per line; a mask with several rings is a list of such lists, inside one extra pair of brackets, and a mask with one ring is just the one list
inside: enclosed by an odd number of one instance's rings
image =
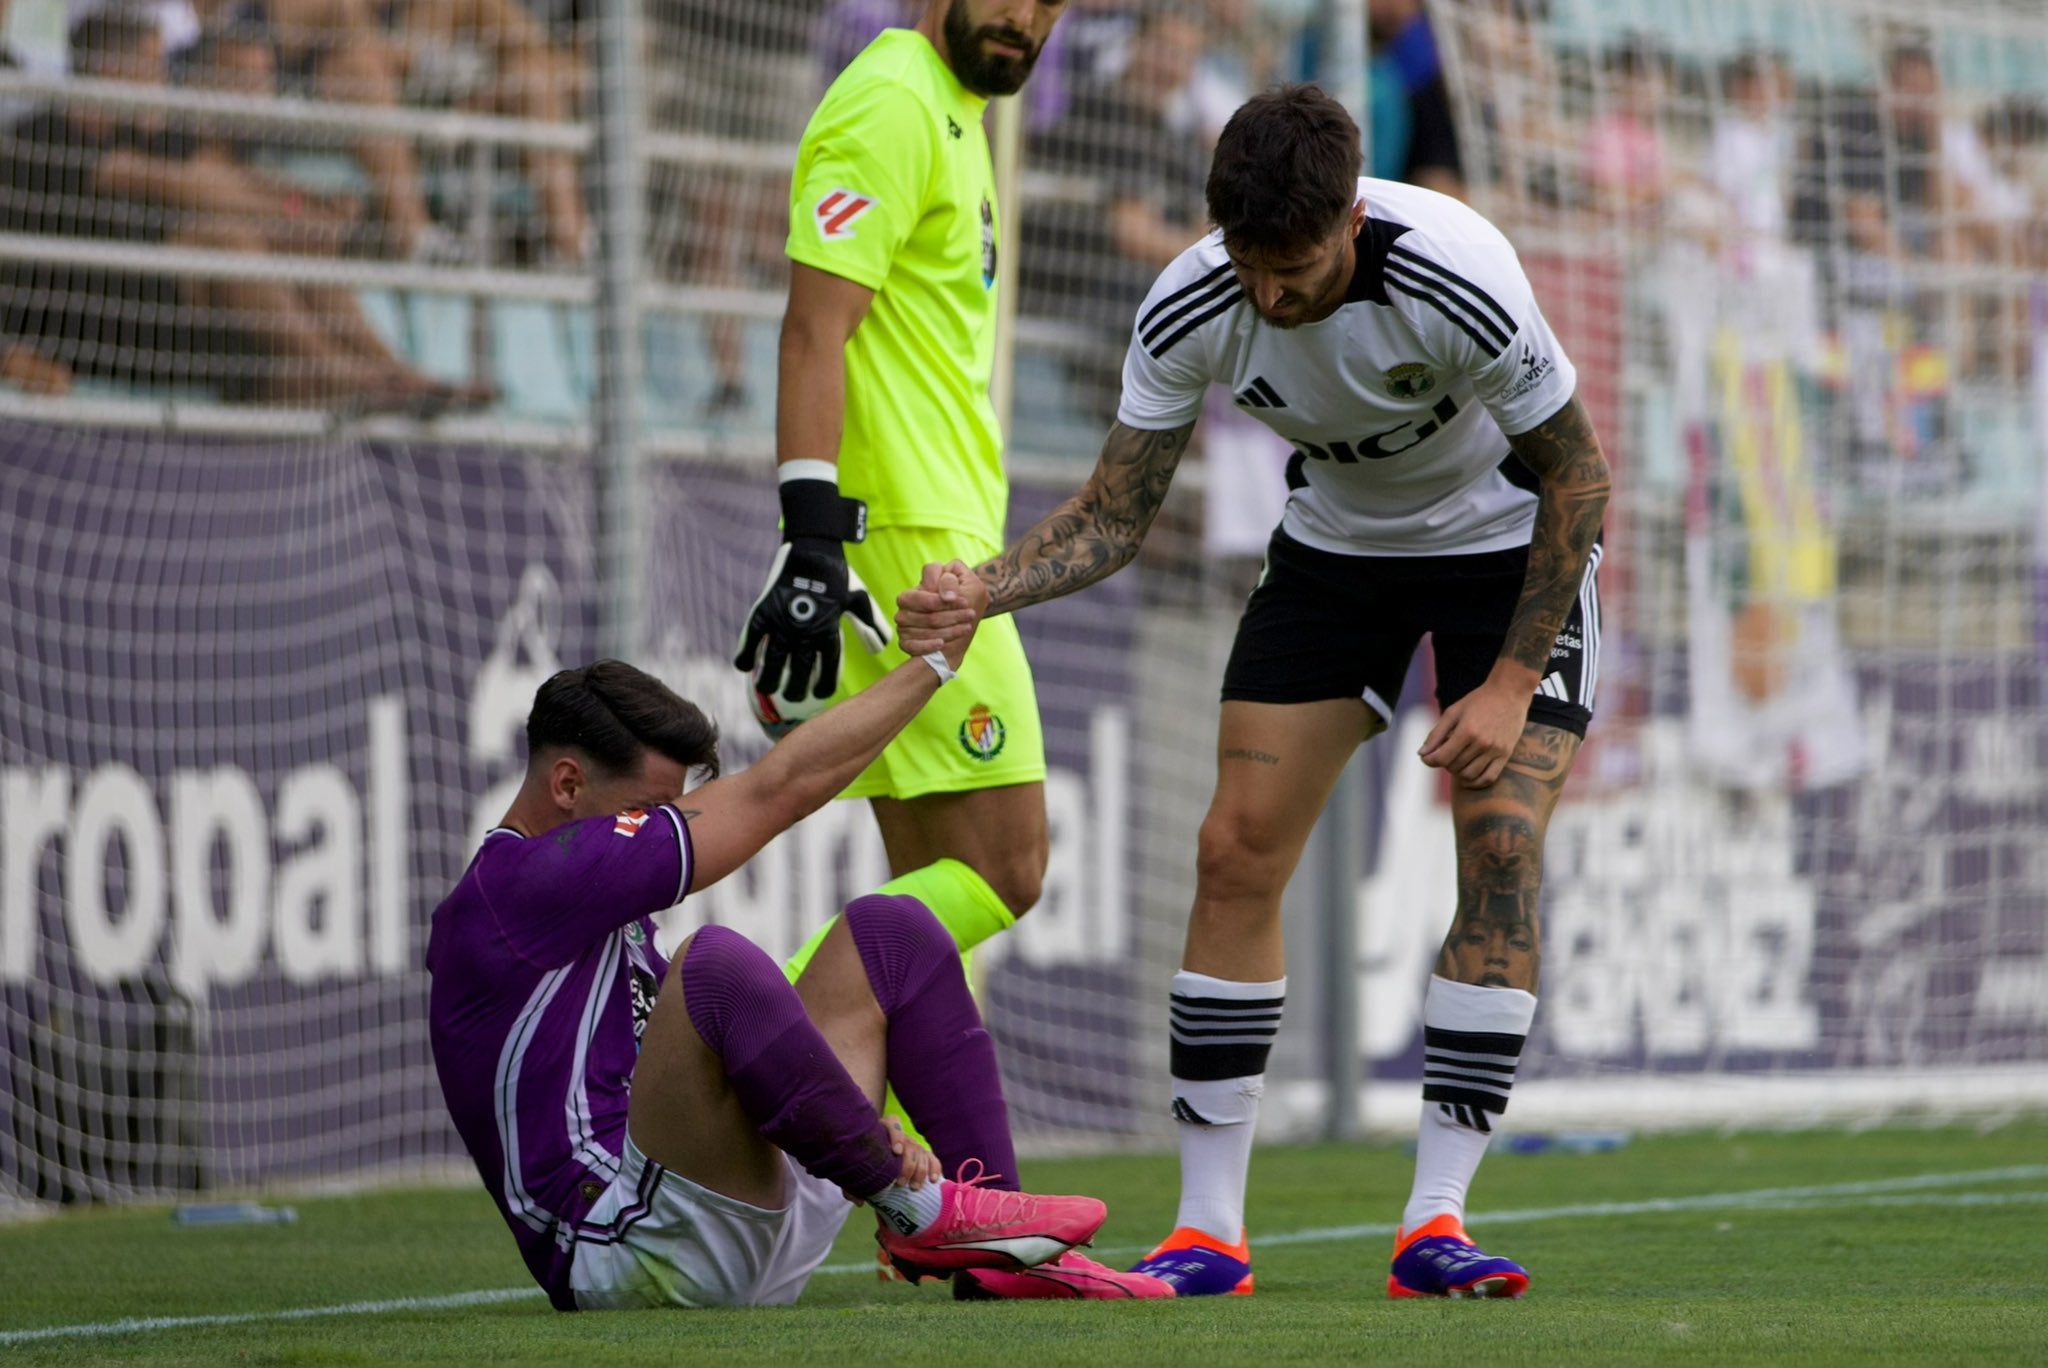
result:
[(1473, 788), (1493, 784), (1516, 754), (1608, 508), (1608, 459), (1577, 395), (1507, 444), (1538, 481), (1522, 598), (1487, 682), (1444, 709), (1421, 747), (1423, 764)]

